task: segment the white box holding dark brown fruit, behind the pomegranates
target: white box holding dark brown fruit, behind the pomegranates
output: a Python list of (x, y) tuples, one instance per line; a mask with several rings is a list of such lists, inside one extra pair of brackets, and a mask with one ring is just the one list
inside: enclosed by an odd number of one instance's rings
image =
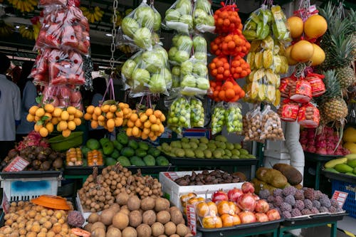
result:
[[(202, 171), (195, 171), (195, 173), (200, 174)], [(228, 191), (229, 189), (234, 189), (235, 187), (241, 189), (242, 182), (231, 183), (231, 184), (208, 184), (208, 185), (194, 185), (194, 186), (179, 186), (173, 181), (179, 177), (184, 177), (184, 175), (191, 175), (192, 172), (160, 172), (159, 182), (162, 184), (162, 192), (164, 197), (169, 199), (169, 201), (182, 209), (182, 204), (180, 203), (180, 196), (189, 193), (195, 193), (197, 196), (204, 198), (210, 198), (214, 191), (223, 189)]]

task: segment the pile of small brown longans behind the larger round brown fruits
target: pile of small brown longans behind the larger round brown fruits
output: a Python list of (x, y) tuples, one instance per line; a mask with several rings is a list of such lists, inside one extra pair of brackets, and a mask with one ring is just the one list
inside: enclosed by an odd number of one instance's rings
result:
[(140, 196), (140, 199), (150, 196), (157, 199), (162, 196), (161, 184), (158, 179), (142, 176), (140, 171), (132, 174), (121, 164), (105, 167), (102, 174), (94, 170), (78, 191), (83, 209), (91, 212), (108, 209), (115, 203), (122, 205), (122, 201)]

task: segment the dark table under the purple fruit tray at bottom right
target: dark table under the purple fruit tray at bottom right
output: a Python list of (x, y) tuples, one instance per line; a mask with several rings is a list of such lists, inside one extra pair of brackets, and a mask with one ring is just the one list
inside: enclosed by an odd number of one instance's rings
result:
[(326, 226), (328, 224), (331, 225), (330, 237), (336, 237), (337, 221), (341, 221), (344, 216), (347, 216), (345, 212), (286, 219), (278, 228), (278, 237), (290, 236), (290, 233), (285, 233), (285, 231), (295, 230), (298, 228)]

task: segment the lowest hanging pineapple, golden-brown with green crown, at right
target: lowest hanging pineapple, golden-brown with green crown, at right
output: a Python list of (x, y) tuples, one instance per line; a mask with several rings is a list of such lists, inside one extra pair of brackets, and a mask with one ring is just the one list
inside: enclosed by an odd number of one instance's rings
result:
[(324, 75), (326, 92), (318, 98), (320, 123), (342, 121), (347, 116), (348, 109), (345, 100), (342, 99), (335, 70), (328, 70)]

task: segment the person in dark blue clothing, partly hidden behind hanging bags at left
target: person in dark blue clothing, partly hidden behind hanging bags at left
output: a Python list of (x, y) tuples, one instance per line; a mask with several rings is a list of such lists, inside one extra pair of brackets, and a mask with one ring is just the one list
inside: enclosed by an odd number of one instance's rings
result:
[(28, 122), (26, 117), (28, 115), (28, 110), (33, 106), (37, 105), (37, 88), (33, 84), (33, 78), (28, 78), (33, 67), (32, 61), (26, 61), (22, 65), (21, 75), (17, 85), (20, 88), (21, 93), (21, 123), (16, 128), (16, 142), (19, 142), (28, 135), (29, 132), (33, 130), (34, 122)]

